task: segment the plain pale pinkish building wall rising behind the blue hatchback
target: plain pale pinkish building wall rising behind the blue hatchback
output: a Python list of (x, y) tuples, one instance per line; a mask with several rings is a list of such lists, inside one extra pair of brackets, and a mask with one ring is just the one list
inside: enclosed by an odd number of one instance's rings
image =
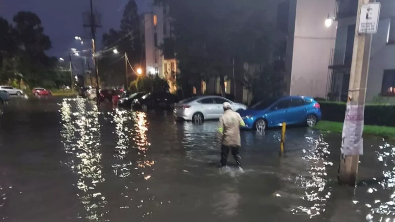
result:
[(326, 52), (335, 47), (336, 38), (336, 25), (325, 26), (325, 19), (333, 15), (335, 2), (286, 0), (280, 4), (278, 18), (287, 9), (284, 94), (325, 98), (330, 58)]

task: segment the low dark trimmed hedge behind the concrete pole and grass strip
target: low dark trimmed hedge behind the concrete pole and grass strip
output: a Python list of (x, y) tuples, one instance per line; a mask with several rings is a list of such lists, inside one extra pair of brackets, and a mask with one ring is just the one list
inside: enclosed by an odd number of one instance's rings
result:
[[(343, 122), (346, 103), (320, 101), (322, 120)], [(366, 125), (395, 126), (395, 105), (366, 104)]]

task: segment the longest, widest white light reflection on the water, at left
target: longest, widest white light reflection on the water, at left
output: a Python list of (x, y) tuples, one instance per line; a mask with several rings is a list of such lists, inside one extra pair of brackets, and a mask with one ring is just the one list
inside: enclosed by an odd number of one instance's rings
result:
[[(73, 104), (76, 106), (75, 112)], [(105, 179), (102, 175), (97, 107), (92, 106), (88, 111), (85, 100), (65, 99), (60, 112), (63, 121), (62, 143), (64, 151), (70, 154), (66, 165), (78, 175), (76, 186), (80, 192), (77, 196), (87, 211), (86, 215), (78, 217), (101, 221), (108, 212), (101, 210), (107, 201), (98, 187)]]

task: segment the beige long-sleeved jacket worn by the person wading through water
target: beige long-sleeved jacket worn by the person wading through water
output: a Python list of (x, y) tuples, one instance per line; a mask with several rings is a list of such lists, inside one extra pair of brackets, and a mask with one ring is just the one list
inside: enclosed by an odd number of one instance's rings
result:
[(240, 126), (245, 126), (239, 113), (231, 109), (225, 111), (220, 117), (218, 126), (218, 137), (224, 146), (240, 147)]

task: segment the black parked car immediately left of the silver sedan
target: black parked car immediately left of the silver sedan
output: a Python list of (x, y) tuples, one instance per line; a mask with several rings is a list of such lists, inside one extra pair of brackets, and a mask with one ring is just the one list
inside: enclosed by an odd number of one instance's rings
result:
[(134, 109), (173, 109), (178, 103), (177, 96), (168, 92), (148, 93), (132, 102)]

